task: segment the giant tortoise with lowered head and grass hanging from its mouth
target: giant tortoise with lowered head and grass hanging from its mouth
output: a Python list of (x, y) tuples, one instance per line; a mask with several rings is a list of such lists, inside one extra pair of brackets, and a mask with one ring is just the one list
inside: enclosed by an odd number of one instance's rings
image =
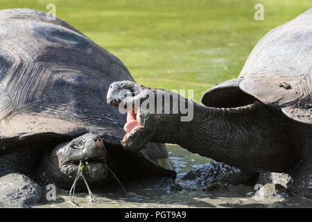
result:
[[(125, 119), (106, 101), (117, 80), (133, 78), (118, 58), (61, 19), (0, 10), (0, 205), (36, 203), (27, 196), (28, 189), (38, 193), (33, 180), (70, 188), (80, 161), (88, 162), (90, 187), (114, 180), (107, 167), (121, 182), (175, 178), (164, 144), (137, 153), (121, 146)], [(14, 193), (22, 189), (26, 196)]]

